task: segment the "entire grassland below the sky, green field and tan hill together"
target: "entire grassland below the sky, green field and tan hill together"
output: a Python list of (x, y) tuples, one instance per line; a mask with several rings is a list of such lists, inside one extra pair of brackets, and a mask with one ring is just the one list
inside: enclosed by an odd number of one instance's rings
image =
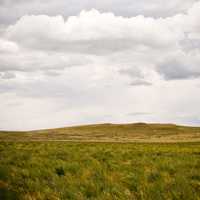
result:
[(0, 132), (0, 200), (200, 200), (200, 128)]

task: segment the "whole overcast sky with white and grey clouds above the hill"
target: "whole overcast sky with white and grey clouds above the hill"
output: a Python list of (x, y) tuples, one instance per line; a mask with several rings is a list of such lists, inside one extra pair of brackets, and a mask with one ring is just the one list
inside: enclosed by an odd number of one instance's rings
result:
[(200, 126), (200, 1), (0, 0), (0, 129)]

